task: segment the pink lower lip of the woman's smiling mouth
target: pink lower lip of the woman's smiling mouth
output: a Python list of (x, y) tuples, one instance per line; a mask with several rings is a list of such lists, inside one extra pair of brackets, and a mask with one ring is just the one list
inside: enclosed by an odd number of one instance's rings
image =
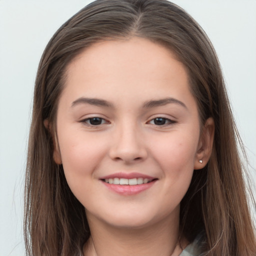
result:
[(145, 183), (145, 184), (138, 184), (138, 185), (115, 185), (115, 184), (109, 184), (101, 180), (101, 182), (110, 190), (121, 194), (121, 195), (133, 195), (138, 194), (148, 188), (150, 188), (157, 179)]

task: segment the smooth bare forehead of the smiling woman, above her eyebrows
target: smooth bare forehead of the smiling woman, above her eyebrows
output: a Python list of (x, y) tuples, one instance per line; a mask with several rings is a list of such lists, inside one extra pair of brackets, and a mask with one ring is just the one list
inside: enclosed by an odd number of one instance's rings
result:
[(140, 37), (106, 40), (85, 48), (67, 66), (64, 91), (74, 99), (191, 96), (186, 69), (175, 54)]

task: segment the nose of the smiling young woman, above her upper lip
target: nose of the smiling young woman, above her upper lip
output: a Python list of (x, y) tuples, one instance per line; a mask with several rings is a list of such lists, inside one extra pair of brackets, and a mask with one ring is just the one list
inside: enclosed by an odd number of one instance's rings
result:
[(122, 125), (115, 129), (109, 156), (126, 164), (142, 161), (147, 157), (145, 140), (135, 125)]

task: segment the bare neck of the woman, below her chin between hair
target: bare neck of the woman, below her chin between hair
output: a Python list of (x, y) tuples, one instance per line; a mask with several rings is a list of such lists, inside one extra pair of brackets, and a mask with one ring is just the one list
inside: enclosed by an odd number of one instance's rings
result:
[(179, 239), (178, 215), (139, 228), (116, 227), (92, 216), (87, 218), (91, 236), (84, 245), (84, 256), (177, 256), (186, 245)]

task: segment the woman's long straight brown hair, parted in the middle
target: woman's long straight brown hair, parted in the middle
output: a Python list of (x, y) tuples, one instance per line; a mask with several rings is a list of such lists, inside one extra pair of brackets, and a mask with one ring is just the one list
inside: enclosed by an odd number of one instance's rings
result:
[(132, 36), (175, 52), (189, 74), (203, 124), (211, 116), (211, 157), (194, 171), (180, 205), (180, 234), (204, 232), (204, 255), (255, 256), (256, 242), (238, 153), (240, 138), (220, 65), (208, 37), (182, 8), (167, 0), (96, 0), (67, 20), (48, 42), (37, 71), (29, 134), (24, 234), (27, 254), (79, 255), (90, 235), (84, 207), (53, 160), (52, 132), (67, 64), (88, 45)]

